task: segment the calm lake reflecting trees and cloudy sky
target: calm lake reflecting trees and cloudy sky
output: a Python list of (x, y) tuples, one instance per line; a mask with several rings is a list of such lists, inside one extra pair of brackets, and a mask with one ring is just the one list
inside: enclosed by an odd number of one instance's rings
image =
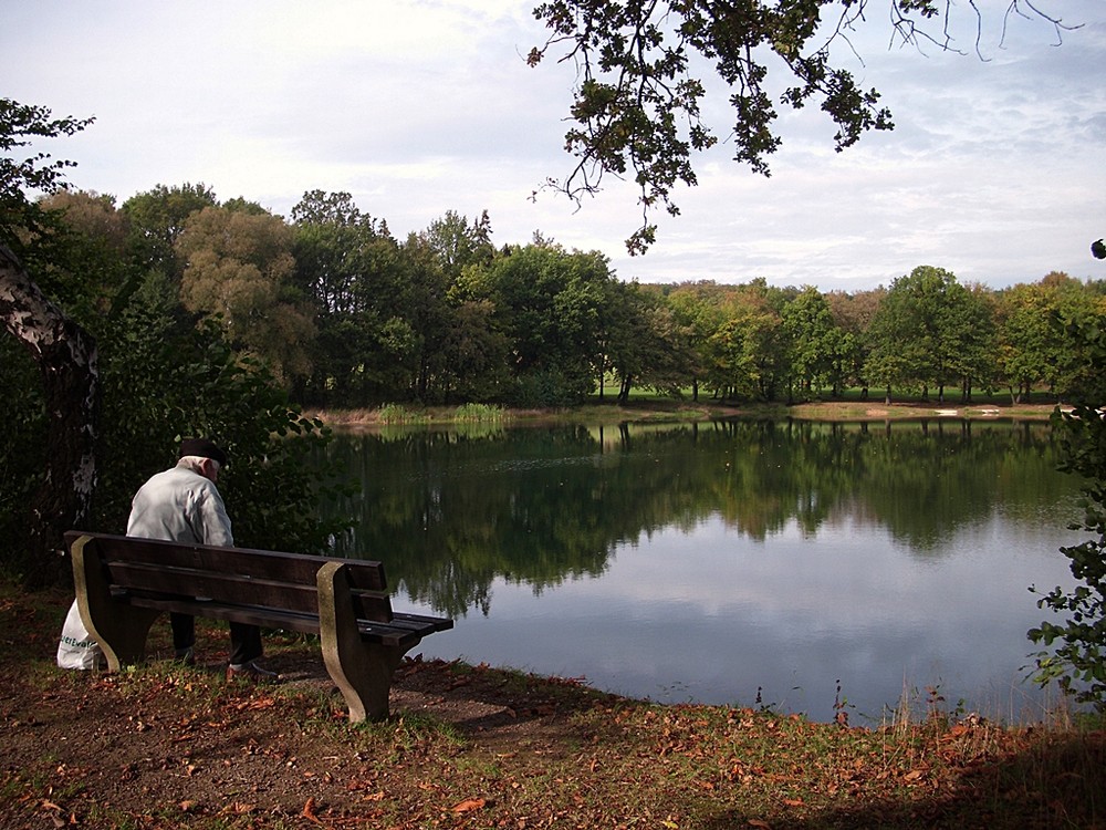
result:
[[(658, 702), (831, 720), (1034, 720), (1025, 632), (1071, 587), (1079, 480), (1047, 424), (720, 421), (340, 433), (361, 480), (343, 556), (397, 610), (456, 618), (413, 653)], [(1054, 694), (1053, 699), (1054, 699)]]

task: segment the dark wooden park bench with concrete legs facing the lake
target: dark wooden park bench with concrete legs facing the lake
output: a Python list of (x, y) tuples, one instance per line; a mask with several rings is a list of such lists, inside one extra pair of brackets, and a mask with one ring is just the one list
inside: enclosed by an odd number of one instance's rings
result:
[(139, 663), (163, 612), (319, 634), (349, 720), (388, 716), (392, 676), (447, 618), (392, 610), (379, 562), (70, 531), (77, 606), (111, 672)]

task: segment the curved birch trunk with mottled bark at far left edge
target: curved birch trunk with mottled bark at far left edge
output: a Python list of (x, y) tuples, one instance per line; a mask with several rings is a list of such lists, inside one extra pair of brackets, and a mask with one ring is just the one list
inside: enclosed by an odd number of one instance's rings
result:
[(42, 588), (69, 573), (62, 533), (84, 527), (96, 487), (96, 342), (46, 299), (2, 243), (0, 319), (42, 376), (49, 422), (42, 481), (28, 506), (27, 538), (12, 540), (27, 587)]

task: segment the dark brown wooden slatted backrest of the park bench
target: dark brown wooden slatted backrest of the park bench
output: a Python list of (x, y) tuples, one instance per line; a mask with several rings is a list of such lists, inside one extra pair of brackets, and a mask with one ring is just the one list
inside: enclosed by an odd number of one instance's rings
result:
[(390, 622), (384, 568), (366, 560), (259, 551), (155, 539), (66, 533), (72, 544), (91, 536), (108, 582), (144, 594), (207, 596), (216, 602), (316, 613), (315, 574), (328, 561), (345, 563), (358, 619)]

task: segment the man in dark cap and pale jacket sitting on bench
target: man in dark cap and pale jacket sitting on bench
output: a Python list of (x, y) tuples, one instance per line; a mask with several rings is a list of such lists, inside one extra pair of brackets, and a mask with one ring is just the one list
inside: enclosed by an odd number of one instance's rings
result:
[[(216, 483), (227, 454), (207, 438), (185, 438), (177, 466), (158, 473), (139, 488), (131, 506), (127, 536), (171, 542), (230, 547), (234, 537)], [(177, 660), (194, 665), (196, 621), (170, 614), (173, 647)], [(231, 622), (227, 679), (273, 681), (276, 674), (257, 664), (262, 654), (261, 630)]]

